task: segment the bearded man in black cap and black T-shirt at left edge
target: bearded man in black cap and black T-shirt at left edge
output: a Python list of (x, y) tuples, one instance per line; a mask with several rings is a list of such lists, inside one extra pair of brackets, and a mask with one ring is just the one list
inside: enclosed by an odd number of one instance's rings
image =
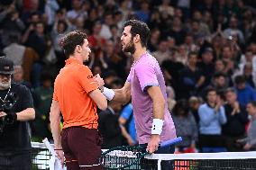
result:
[(0, 57), (0, 169), (32, 170), (27, 122), (35, 117), (32, 94), (11, 83), (13, 73), (13, 61)]

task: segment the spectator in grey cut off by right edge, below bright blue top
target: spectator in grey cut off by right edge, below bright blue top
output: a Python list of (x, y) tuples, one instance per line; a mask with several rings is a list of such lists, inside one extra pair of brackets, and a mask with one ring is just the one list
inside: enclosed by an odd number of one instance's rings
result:
[(251, 115), (247, 138), (238, 139), (237, 142), (243, 144), (244, 150), (256, 150), (256, 102), (248, 103), (246, 110)]

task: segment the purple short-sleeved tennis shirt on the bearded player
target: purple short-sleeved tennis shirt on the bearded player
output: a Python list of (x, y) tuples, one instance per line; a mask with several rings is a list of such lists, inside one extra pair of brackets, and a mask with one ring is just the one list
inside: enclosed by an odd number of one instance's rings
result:
[(131, 84), (133, 114), (139, 143), (145, 144), (151, 139), (153, 103), (151, 96), (147, 93), (147, 86), (160, 86), (165, 99), (164, 123), (160, 142), (176, 138), (175, 126), (168, 110), (165, 81), (156, 58), (153, 58), (148, 52), (143, 54), (133, 63), (127, 81)]

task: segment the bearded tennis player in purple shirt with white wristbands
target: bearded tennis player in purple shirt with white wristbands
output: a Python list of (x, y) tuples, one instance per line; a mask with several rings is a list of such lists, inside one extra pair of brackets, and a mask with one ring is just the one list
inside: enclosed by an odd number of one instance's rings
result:
[[(159, 144), (176, 138), (174, 123), (168, 111), (164, 77), (158, 61), (147, 52), (150, 29), (137, 20), (124, 23), (121, 37), (123, 52), (133, 54), (134, 62), (122, 89), (101, 90), (108, 100), (127, 103), (132, 96), (137, 137), (150, 153), (173, 153), (174, 149), (161, 149)], [(104, 83), (98, 81), (99, 86)]]

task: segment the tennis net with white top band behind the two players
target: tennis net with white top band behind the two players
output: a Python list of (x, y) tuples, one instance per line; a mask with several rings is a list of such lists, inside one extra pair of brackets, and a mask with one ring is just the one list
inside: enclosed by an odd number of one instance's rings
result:
[[(34, 169), (48, 169), (50, 152), (43, 143), (32, 142)], [(123, 157), (134, 157), (116, 151), (109, 158), (122, 162)], [(125, 158), (127, 161), (127, 158)], [(153, 154), (125, 169), (145, 170), (256, 170), (256, 151), (224, 153)]]

